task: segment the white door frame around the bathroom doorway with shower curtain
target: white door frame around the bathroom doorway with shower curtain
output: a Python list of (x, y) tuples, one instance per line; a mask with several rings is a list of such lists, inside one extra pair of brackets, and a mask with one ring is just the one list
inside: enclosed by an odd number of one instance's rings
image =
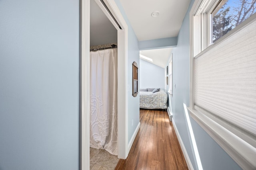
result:
[[(99, 4), (100, 0), (95, 0)], [(128, 26), (114, 0), (103, 0), (115, 20), (121, 26), (118, 27), (118, 158), (126, 159), (128, 156), (128, 92), (127, 92), (127, 60), (128, 60)], [(101, 2), (100, 2), (101, 3)], [(90, 0), (80, 0), (80, 169), (90, 169)], [(106, 10), (103, 12), (106, 14)], [(108, 14), (106, 16), (109, 18)], [(110, 20), (111, 21), (111, 20)], [(113, 23), (114, 20), (111, 22)]]

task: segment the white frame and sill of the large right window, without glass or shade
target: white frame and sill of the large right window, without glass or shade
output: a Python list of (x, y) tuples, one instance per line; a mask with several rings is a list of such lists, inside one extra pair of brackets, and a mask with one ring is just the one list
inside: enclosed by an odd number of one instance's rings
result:
[[(190, 107), (187, 107), (190, 116), (224, 149), (231, 158), (243, 169), (254, 169), (256, 163), (250, 156), (256, 156), (256, 139), (252, 135), (243, 134), (239, 129), (219, 119), (207, 111), (195, 107), (195, 59), (221, 43), (233, 33), (236, 33), (251, 21), (256, 14), (248, 18), (240, 25), (220, 37), (214, 43), (212, 41), (211, 13), (219, 0), (195, 0), (190, 10)], [(253, 145), (251, 145), (253, 144)], [(248, 156), (248, 153), (251, 155)]]

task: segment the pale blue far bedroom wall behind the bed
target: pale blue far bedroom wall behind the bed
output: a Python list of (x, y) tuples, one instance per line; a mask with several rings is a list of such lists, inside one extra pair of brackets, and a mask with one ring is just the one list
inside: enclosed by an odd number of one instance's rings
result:
[(165, 70), (164, 68), (140, 59), (140, 88), (161, 88), (164, 89)]

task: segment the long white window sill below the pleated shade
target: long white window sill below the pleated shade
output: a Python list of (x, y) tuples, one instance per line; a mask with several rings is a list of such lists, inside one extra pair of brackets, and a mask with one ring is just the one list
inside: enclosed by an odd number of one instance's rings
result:
[(231, 158), (246, 170), (256, 169), (256, 148), (205, 114), (187, 107), (190, 116), (224, 149)]

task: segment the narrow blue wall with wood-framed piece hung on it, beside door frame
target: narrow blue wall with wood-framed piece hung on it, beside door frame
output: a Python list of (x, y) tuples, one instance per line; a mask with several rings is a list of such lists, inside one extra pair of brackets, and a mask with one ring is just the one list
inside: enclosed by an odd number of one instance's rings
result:
[[(134, 131), (140, 122), (140, 97), (132, 96), (132, 63), (135, 61), (138, 66), (140, 65), (140, 51), (138, 49), (138, 39), (132, 29), (130, 21), (128, 20), (124, 8), (120, 0), (115, 0), (126, 24), (128, 25), (128, 84), (130, 91), (128, 91), (128, 143), (130, 142)], [(140, 69), (139, 69), (140, 71)], [(139, 75), (139, 74), (138, 74)], [(140, 79), (140, 77), (139, 77)], [(140, 88), (140, 87), (138, 87)]]

